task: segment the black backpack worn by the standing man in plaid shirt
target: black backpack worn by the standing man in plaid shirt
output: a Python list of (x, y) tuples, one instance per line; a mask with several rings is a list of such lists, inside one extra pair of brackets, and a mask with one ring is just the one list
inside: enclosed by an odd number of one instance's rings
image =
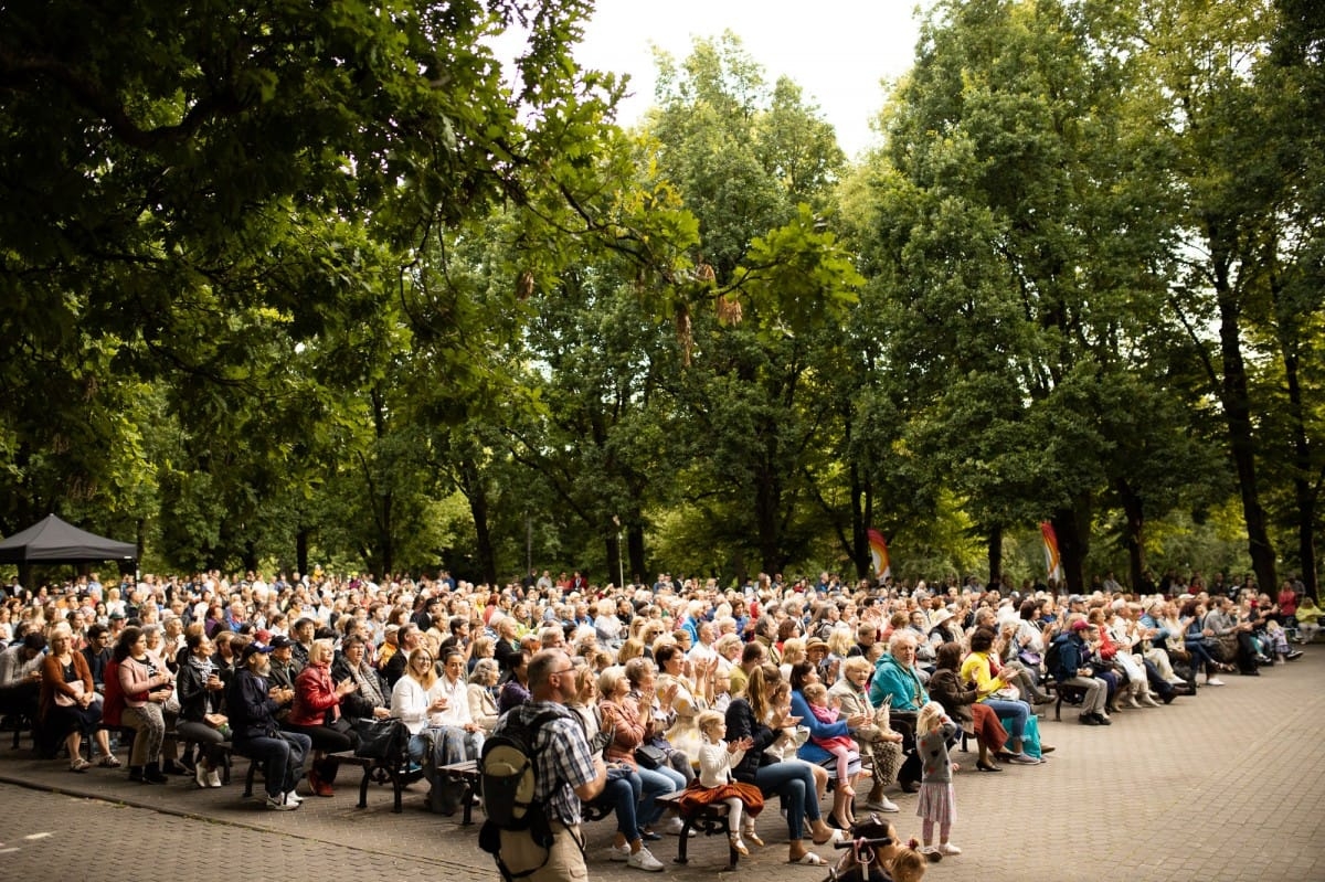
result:
[[(553, 829), (547, 807), (535, 799), (538, 792), (538, 756), (547, 750), (550, 739), (538, 747), (538, 734), (559, 718), (570, 718), (562, 709), (531, 711), (514, 707), (502, 718), (501, 726), (484, 742), (478, 756), (478, 776), (484, 795), (484, 813), (488, 820), (478, 834), (480, 846), (497, 857), (502, 878), (518, 879), (542, 867), (531, 867), (513, 874), (501, 859), (501, 830), (529, 830), (534, 844), (550, 850)], [(543, 858), (547, 863), (547, 858)]]

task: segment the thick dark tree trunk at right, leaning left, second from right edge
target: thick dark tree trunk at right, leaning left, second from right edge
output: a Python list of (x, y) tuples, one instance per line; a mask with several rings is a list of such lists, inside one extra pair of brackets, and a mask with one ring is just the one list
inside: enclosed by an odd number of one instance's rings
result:
[(1242, 310), (1238, 294), (1228, 278), (1228, 249), (1214, 224), (1208, 225), (1207, 238), (1211, 249), (1211, 266), (1215, 277), (1215, 294), (1219, 299), (1219, 351), (1223, 360), (1223, 387), (1220, 389), (1224, 421), (1228, 428), (1228, 449), (1238, 471), (1238, 490), (1242, 494), (1243, 519), (1247, 523), (1247, 546), (1251, 554), (1252, 571), (1261, 591), (1273, 592), (1275, 548), (1269, 542), (1265, 510), (1260, 505), (1260, 489), (1256, 483), (1256, 440), (1251, 421), (1251, 393), (1247, 383), (1247, 366), (1242, 355)]

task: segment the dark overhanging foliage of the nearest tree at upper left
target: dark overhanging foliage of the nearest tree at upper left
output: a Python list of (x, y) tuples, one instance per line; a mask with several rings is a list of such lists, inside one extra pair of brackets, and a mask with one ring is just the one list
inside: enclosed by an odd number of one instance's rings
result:
[[(129, 425), (107, 418), (121, 409), (113, 379), (262, 400), (250, 347), (273, 327), (326, 347), (409, 293), (443, 232), (504, 201), (574, 196), (583, 132), (619, 89), (571, 60), (587, 12), (578, 0), (0, 12), (0, 389), (16, 392), (0, 404), (0, 453), (20, 475), (15, 511), (52, 505), (33, 454), (78, 425), (102, 437), (68, 448), (66, 485), (105, 494), (117, 481), (91, 456), (132, 449)], [(511, 26), (527, 42), (507, 86), (490, 44)], [(69, 407), (36, 425), (25, 415), (41, 401)]]

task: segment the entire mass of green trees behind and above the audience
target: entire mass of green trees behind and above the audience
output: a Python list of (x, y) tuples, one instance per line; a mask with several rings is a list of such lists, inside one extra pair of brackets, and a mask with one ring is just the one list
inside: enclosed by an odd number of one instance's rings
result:
[(731, 33), (617, 126), (591, 11), (0, 11), (0, 532), (1314, 591), (1313, 4), (941, 0), (856, 163)]

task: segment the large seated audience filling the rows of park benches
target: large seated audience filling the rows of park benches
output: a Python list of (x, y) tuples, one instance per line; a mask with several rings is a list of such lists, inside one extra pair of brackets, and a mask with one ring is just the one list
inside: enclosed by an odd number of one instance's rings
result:
[[(1220, 686), (1220, 674), (1300, 657), (1318, 616), (1292, 580), (1271, 597), (1199, 576), (1133, 593), (1110, 575), (1061, 595), (828, 573), (738, 588), (666, 573), (624, 588), (578, 572), (500, 588), (445, 572), (91, 573), (4, 589), (0, 712), (33, 727), (40, 754), (64, 750), (76, 773), (122, 765), (107, 726), (132, 730), (127, 775), (144, 785), (178, 773), (220, 787), (232, 742), (264, 760), (268, 808), (292, 810), (301, 784), (334, 796), (354, 720), (398, 718), (412, 767), (439, 768), (476, 759), (511, 710), (553, 701), (595, 746), (571, 791), (607, 800), (607, 857), (629, 867), (662, 869), (648, 844), (682, 832), (659, 799), (676, 792), (726, 803), (739, 853), (765, 845), (765, 800), (778, 797), (787, 859), (804, 865), (823, 863), (815, 846), (861, 813), (898, 812), (894, 797), (918, 793), (916, 852), (957, 856), (947, 746), (959, 734), (975, 740), (978, 771), (1040, 765), (1053, 751), (1037, 723), (1049, 683), (1069, 691), (1081, 724), (1109, 726)], [(590, 787), (598, 763), (604, 777)], [(560, 797), (567, 825), (579, 821), (574, 793)], [(433, 781), (435, 809), (454, 812), (457, 799)]]

